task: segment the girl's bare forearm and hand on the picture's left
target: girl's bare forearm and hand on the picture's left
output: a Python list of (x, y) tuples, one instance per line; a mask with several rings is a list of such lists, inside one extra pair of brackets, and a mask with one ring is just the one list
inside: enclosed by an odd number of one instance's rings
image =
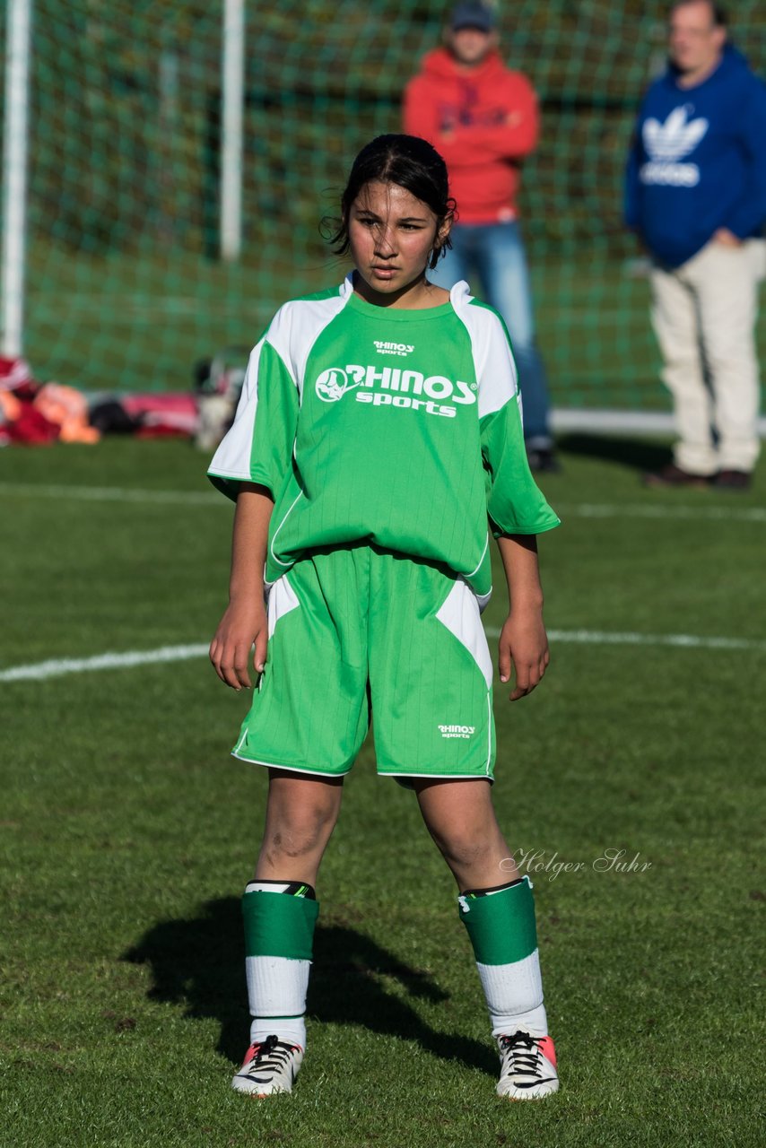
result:
[(263, 600), (263, 571), (266, 560), (269, 521), (273, 498), (265, 487), (243, 482), (237, 497), (232, 541), (229, 606), (210, 643), (210, 661), (222, 682), (234, 690), (250, 687), (249, 656), (263, 673), (269, 626)]

